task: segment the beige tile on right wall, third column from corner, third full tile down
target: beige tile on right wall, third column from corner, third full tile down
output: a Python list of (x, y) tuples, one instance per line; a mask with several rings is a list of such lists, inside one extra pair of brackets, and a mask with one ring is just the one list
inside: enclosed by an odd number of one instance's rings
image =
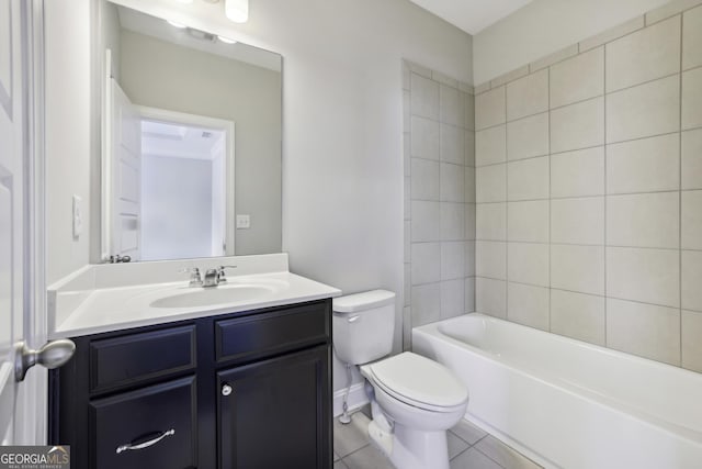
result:
[(604, 147), (551, 155), (551, 197), (604, 193)]

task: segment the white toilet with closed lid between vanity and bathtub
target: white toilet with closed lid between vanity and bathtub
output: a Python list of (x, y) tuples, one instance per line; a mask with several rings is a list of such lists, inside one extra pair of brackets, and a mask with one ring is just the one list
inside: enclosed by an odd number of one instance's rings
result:
[[(468, 391), (443, 365), (393, 348), (395, 293), (374, 290), (333, 299), (333, 346), (361, 365), (372, 440), (398, 469), (449, 469), (446, 429), (465, 414)], [(375, 361), (377, 360), (377, 361)]]

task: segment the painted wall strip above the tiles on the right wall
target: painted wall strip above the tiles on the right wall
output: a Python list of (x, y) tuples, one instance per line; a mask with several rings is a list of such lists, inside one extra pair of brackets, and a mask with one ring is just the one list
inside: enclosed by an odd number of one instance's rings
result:
[(669, 0), (534, 0), (473, 37), (474, 82), (487, 80)]

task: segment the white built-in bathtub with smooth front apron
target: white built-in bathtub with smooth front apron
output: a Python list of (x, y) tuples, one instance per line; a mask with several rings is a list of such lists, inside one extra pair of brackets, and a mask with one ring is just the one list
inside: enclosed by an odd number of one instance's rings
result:
[[(702, 338), (701, 338), (702, 339)], [(412, 330), (466, 418), (545, 467), (702, 468), (702, 375), (469, 314)]]

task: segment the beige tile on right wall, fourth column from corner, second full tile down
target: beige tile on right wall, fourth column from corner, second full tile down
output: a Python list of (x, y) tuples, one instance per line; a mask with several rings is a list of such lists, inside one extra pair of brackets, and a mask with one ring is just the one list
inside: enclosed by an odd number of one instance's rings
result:
[(668, 77), (607, 97), (607, 142), (680, 130), (680, 78)]

